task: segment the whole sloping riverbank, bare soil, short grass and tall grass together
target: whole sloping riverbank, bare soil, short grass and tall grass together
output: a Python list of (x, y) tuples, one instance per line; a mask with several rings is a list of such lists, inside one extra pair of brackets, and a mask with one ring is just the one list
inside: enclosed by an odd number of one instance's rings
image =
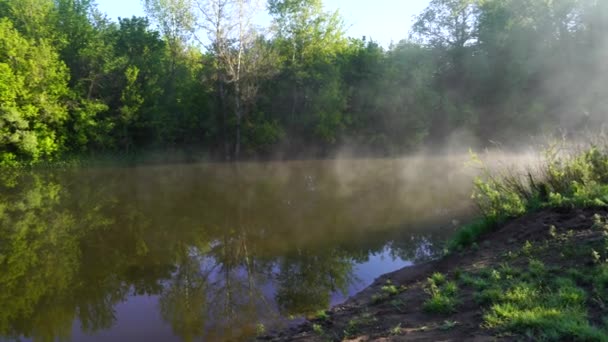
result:
[[(436, 261), (386, 274), (274, 341), (608, 341), (608, 150), (482, 166), (481, 216)], [(582, 151), (582, 152), (581, 152)]]

